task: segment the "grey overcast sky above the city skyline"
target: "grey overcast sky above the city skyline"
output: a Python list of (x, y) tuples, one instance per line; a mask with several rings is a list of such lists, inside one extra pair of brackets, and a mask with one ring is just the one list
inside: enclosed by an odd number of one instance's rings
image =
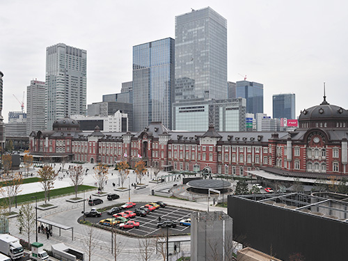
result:
[[(45, 81), (46, 47), (87, 50), (87, 103), (132, 81), (132, 47), (175, 38), (175, 15), (210, 6), (228, 20), (228, 81), (264, 84), (272, 95), (296, 94), (296, 115), (327, 101), (347, 109), (348, 1), (342, 0), (0, 0), (3, 118), (20, 111), (31, 79)], [(25, 100), (26, 106), (26, 100)]]

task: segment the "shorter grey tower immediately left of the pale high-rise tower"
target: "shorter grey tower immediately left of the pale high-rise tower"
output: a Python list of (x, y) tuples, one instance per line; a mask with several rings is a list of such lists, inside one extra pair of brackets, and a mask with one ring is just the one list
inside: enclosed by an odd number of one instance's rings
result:
[(45, 81), (30, 81), (26, 87), (26, 134), (46, 129), (47, 87)]

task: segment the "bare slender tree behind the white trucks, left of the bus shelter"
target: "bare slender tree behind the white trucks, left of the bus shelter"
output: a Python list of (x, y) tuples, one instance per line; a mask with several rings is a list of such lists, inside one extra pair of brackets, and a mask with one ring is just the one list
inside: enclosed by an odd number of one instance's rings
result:
[(19, 209), (17, 216), (17, 227), (24, 235), (28, 237), (28, 243), (30, 245), (30, 236), (36, 230), (35, 223), (35, 208), (31, 204), (22, 205)]

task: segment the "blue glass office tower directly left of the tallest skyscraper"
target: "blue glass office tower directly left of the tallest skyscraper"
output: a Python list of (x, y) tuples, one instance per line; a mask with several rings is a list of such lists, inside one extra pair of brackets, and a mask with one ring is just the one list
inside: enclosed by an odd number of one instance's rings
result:
[(133, 47), (134, 130), (151, 122), (171, 129), (174, 90), (174, 39), (165, 38)]

